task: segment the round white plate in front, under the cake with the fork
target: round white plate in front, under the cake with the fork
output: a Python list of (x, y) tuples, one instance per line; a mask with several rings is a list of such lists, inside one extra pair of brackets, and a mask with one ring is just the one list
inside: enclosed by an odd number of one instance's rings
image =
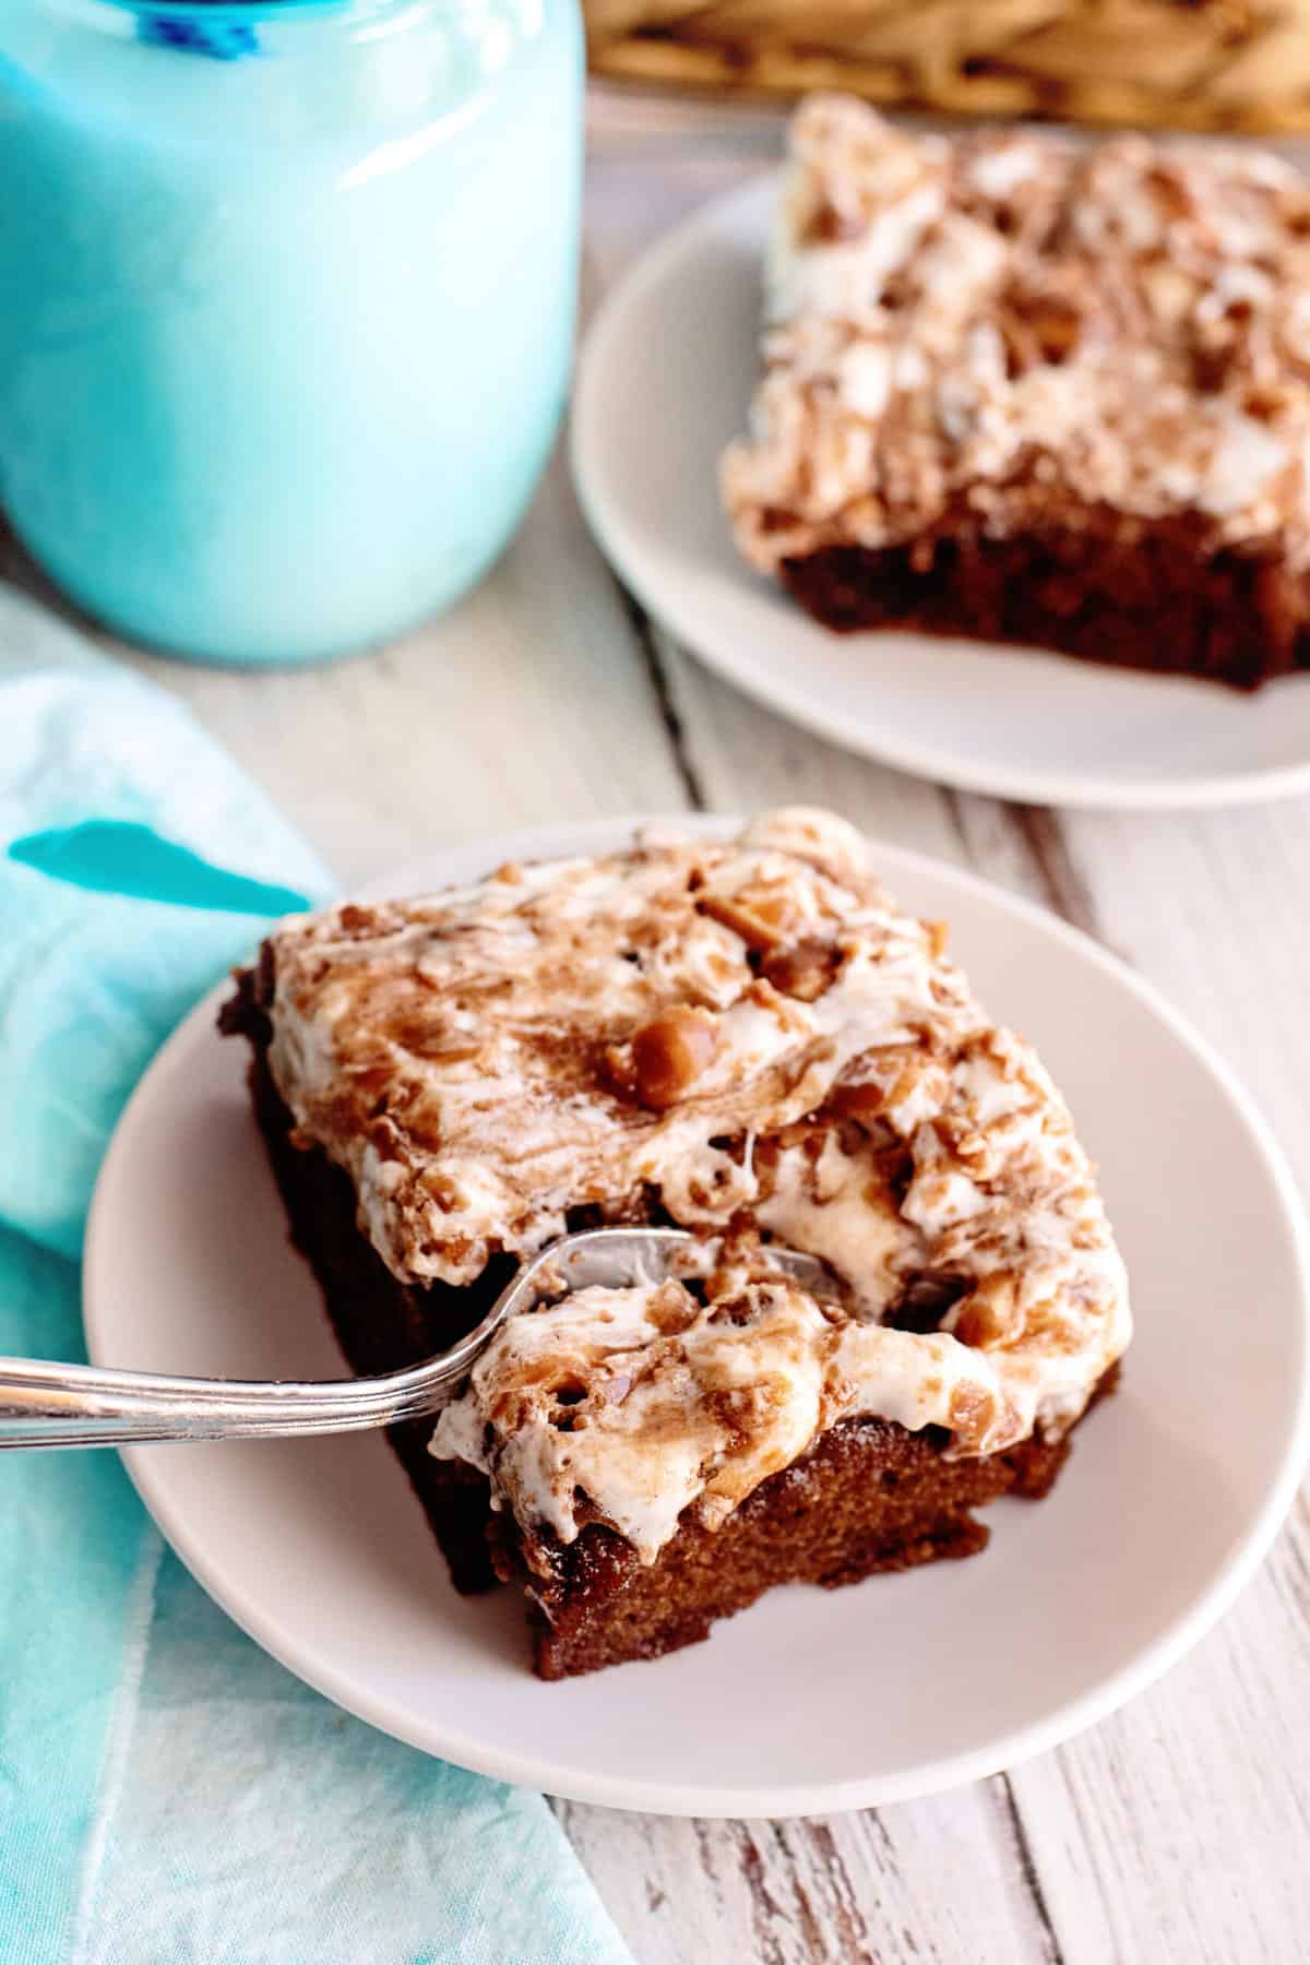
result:
[[(723, 821), (719, 821), (723, 823)], [(385, 892), (619, 845), (627, 823), (450, 849)], [(613, 1808), (770, 1816), (994, 1772), (1165, 1670), (1251, 1576), (1306, 1452), (1298, 1214), (1259, 1118), (1125, 969), (1053, 918), (892, 847), (984, 1000), (1031, 1036), (1102, 1165), (1139, 1334), (1053, 1495), (1002, 1501), (970, 1562), (778, 1590), (654, 1664), (528, 1670), (522, 1603), (462, 1600), (375, 1434), (143, 1446), (128, 1468), (200, 1582), (342, 1706), (430, 1753)], [(100, 1364), (332, 1377), (342, 1360), (214, 1000), (147, 1073), (86, 1244)]]

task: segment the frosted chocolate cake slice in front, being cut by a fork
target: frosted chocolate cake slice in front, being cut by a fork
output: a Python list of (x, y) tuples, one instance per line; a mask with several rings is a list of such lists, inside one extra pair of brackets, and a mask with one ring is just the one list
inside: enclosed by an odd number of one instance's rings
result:
[(397, 1429), (460, 1588), (526, 1586), (548, 1678), (970, 1554), (1127, 1344), (1063, 1100), (827, 814), (289, 922), (224, 1028), (361, 1372), (446, 1348), (570, 1228), (713, 1244), (699, 1281), (517, 1317), (432, 1450)]

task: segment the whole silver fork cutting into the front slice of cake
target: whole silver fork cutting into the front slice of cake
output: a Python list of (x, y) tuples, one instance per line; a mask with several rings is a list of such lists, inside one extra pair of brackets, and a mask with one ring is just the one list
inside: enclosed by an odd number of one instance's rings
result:
[[(426, 1419), (450, 1403), (515, 1311), (595, 1283), (621, 1289), (670, 1275), (703, 1275), (715, 1250), (715, 1242), (682, 1228), (589, 1228), (564, 1236), (526, 1262), (483, 1320), (448, 1352), (383, 1377), (261, 1383), (0, 1358), (0, 1450), (287, 1438)], [(807, 1289), (829, 1281), (829, 1271), (813, 1256), (784, 1248), (770, 1250), (770, 1256)]]

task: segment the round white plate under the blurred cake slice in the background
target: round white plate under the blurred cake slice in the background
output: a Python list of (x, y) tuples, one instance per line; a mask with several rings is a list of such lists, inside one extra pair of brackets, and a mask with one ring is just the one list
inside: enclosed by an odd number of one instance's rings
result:
[(833, 635), (738, 558), (717, 460), (746, 426), (776, 177), (709, 204), (599, 310), (573, 476), (642, 605), (795, 723), (996, 798), (1218, 806), (1310, 786), (1310, 674), (1255, 698), (1070, 656), (911, 633)]

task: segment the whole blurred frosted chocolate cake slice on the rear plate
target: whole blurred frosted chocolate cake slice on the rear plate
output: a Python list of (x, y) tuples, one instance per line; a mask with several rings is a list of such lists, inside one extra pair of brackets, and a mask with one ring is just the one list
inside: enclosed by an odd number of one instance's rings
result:
[(1310, 666), (1310, 183), (1253, 149), (791, 124), (737, 542), (835, 629)]

